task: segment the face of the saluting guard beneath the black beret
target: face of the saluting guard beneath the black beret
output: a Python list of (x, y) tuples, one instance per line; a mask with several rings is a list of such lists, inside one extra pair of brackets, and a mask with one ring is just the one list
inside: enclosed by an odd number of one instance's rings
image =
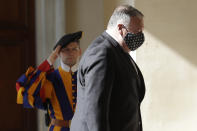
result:
[(64, 64), (73, 66), (81, 56), (81, 49), (77, 42), (71, 42), (65, 48), (60, 50), (60, 58)]

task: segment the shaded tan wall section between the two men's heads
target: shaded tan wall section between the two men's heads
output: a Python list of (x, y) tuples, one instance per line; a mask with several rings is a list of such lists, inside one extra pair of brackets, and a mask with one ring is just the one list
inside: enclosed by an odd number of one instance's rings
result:
[(66, 0), (66, 32), (84, 31), (81, 39), (85, 50), (104, 31), (103, 2), (100, 0)]

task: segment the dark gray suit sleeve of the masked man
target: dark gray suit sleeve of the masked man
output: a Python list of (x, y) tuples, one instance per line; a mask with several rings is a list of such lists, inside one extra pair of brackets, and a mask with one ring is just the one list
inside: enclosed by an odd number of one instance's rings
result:
[[(96, 49), (85, 62), (85, 108), (89, 130), (109, 130), (109, 104), (114, 83), (112, 56), (107, 49)], [(96, 53), (95, 53), (96, 52)]]

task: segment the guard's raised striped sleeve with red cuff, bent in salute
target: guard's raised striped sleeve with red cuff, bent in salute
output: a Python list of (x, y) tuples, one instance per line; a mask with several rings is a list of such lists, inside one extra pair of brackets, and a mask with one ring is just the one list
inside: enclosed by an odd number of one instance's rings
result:
[(43, 103), (50, 99), (52, 91), (52, 83), (46, 77), (53, 70), (47, 60), (37, 69), (29, 67), (16, 82), (17, 104), (23, 104), (25, 108), (44, 109)]

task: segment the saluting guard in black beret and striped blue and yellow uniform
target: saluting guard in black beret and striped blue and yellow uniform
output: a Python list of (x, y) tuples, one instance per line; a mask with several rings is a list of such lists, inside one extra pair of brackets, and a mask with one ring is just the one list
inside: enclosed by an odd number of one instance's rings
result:
[[(16, 82), (17, 103), (47, 110), (49, 131), (69, 131), (77, 97), (77, 62), (82, 31), (64, 35), (38, 68), (29, 67)], [(60, 66), (53, 64), (60, 58)]]

